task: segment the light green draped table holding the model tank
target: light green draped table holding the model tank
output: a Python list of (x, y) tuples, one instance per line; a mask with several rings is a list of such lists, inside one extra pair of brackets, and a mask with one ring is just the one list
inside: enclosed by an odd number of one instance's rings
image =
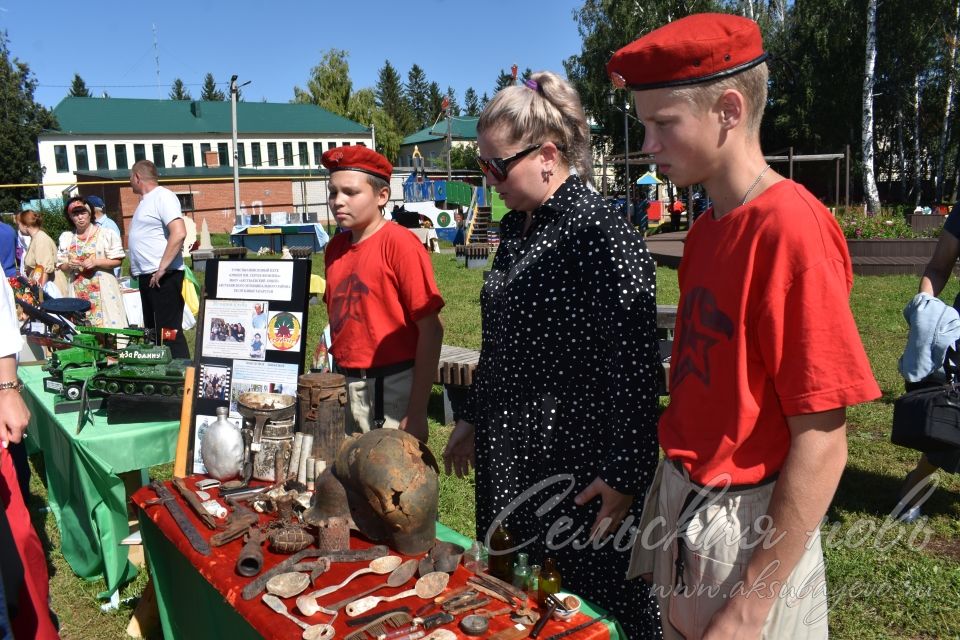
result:
[(127, 495), (118, 474), (173, 460), (177, 422), (108, 425), (94, 412), (79, 435), (77, 414), (54, 414), (56, 397), (43, 390), (39, 366), (20, 367), (23, 399), (30, 409), (25, 440), (29, 453), (41, 452), (47, 501), (60, 529), (64, 558), (81, 578), (103, 576), (109, 597), (131, 580), (136, 568), (120, 542), (130, 534)]

